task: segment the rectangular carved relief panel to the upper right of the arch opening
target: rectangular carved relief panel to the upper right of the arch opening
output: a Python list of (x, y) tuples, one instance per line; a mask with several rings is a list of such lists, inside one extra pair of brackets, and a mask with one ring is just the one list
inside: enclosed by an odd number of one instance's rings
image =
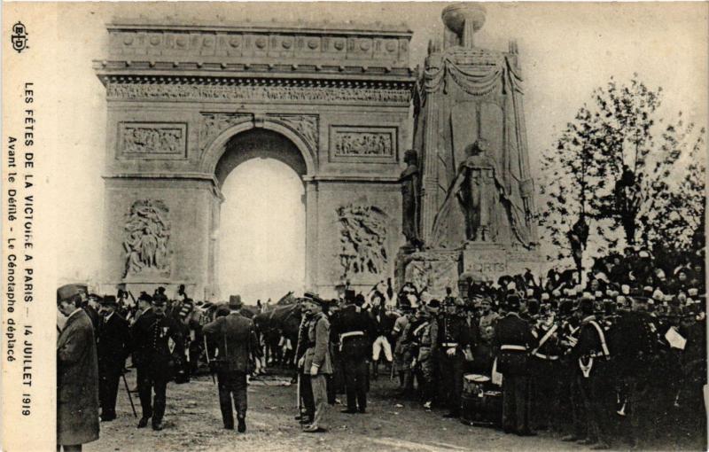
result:
[(395, 127), (331, 126), (330, 161), (395, 163), (396, 131)]

